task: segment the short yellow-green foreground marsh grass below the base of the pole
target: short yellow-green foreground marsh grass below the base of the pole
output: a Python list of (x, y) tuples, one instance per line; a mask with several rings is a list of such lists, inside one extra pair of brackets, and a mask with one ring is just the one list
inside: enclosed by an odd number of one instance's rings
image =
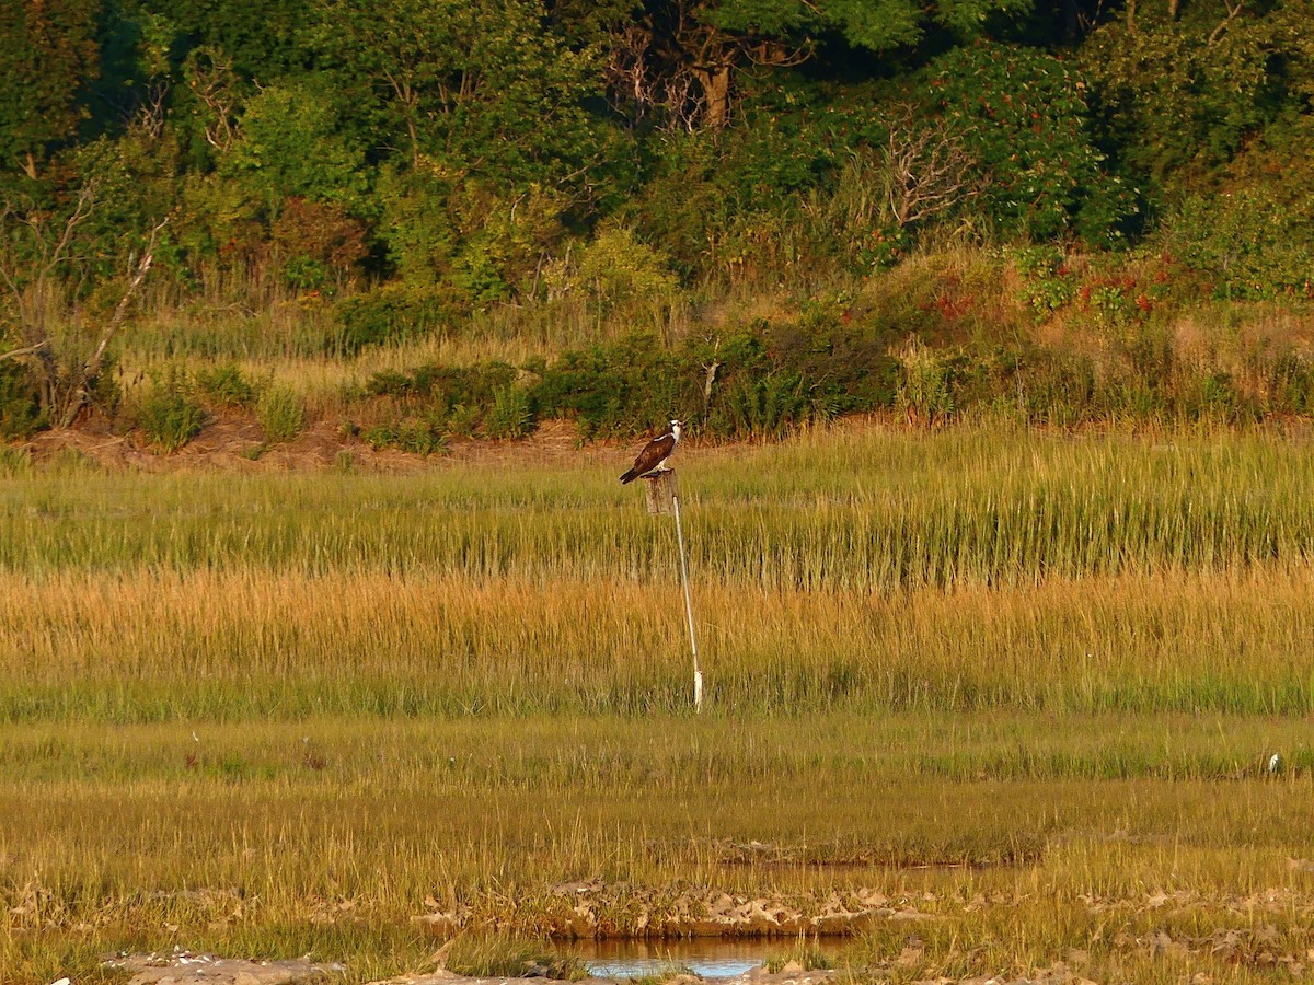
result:
[[(1060, 763), (1114, 733), (1146, 763), (1133, 776), (1028, 776), (989, 751)], [(1118, 935), (1160, 930), (1196, 940), (1273, 925), (1297, 948), (1314, 905), (1314, 776), (1184, 764), (1210, 746), (1247, 762), (1302, 733), (997, 714), (330, 718), (200, 726), (198, 741), (187, 726), (17, 726), (0, 762), (0, 953), (42, 973), (59, 971), (49, 955), (63, 973), (88, 968), (96, 948), (310, 953), (347, 960), (360, 981), (424, 967), (442, 940), (410, 922), (418, 913), (464, 908), (476, 930), (541, 938), (573, 917), (558, 885), (591, 879), (618, 886), (619, 931), (666, 886), (784, 894), (804, 911), (878, 890), (904, 914), (865, 938), (862, 960), (878, 965), (909, 939), (926, 968), (979, 946), (963, 967), (995, 971), (1072, 947), (1116, 955), (1139, 947)], [(959, 756), (953, 777), (920, 766)], [(745, 860), (754, 841), (773, 851)], [(526, 960), (503, 943), (449, 965)]]

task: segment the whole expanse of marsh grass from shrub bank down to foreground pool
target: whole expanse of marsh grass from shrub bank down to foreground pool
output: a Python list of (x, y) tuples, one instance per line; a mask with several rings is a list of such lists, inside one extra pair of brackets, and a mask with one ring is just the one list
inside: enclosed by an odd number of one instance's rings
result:
[(612, 458), (13, 469), (0, 982), (172, 947), (368, 981), (430, 967), (417, 914), (536, 939), (582, 880), (619, 930), (876, 890), (853, 981), (1309, 965), (1306, 447), (682, 452), (700, 716), (673, 532)]

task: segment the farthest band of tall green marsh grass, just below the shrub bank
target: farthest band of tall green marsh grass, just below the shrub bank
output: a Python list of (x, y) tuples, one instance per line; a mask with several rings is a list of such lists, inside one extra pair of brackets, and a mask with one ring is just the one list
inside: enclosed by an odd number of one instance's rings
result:
[[(585, 466), (384, 475), (35, 473), (0, 498), (0, 570), (271, 569), (668, 580), (668, 525)], [(1068, 440), (823, 432), (690, 450), (691, 563), (720, 586), (894, 592), (1303, 562), (1303, 445), (1254, 433)], [(623, 461), (623, 460), (622, 460)]]

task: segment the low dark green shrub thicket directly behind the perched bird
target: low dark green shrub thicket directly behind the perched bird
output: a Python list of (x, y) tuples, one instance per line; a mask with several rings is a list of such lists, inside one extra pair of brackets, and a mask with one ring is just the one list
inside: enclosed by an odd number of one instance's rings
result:
[(886, 349), (883, 334), (819, 306), (799, 322), (675, 347), (635, 335), (565, 352), (520, 381), (501, 362), (382, 372), (367, 393), (463, 436), (482, 422), (489, 437), (523, 437), (537, 419), (561, 416), (586, 439), (629, 437), (679, 416), (711, 436), (765, 437), (891, 406), (897, 362)]

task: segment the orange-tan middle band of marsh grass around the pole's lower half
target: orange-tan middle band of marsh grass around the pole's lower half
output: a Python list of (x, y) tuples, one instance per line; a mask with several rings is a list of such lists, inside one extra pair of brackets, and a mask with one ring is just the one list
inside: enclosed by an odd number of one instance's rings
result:
[[(1314, 709), (1314, 571), (892, 596), (702, 584), (712, 714)], [(0, 718), (105, 722), (689, 708), (653, 582), (279, 571), (0, 580)]]

